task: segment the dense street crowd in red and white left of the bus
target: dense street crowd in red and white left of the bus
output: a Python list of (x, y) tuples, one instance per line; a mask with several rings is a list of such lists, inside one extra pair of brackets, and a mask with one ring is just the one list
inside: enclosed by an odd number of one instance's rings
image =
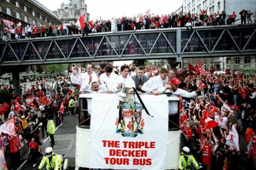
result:
[[(72, 90), (71, 90), (72, 87)], [(13, 99), (10, 103), (0, 104), (1, 123), (14, 119), (15, 135), (1, 131), (0, 148), (11, 158), (10, 169), (18, 169), (23, 147), (29, 147), (29, 161), (33, 167), (36, 159), (41, 157), (41, 139), (50, 137), (51, 147), (55, 145), (54, 133), (56, 127), (64, 122), (64, 113), (75, 114), (78, 111), (78, 90), (72, 86), (67, 77), (59, 77), (51, 84), (47, 79), (36, 82), (30, 87), (23, 85), (21, 95), (14, 94), (10, 85), (3, 86)], [(41, 129), (41, 130), (40, 130)]]

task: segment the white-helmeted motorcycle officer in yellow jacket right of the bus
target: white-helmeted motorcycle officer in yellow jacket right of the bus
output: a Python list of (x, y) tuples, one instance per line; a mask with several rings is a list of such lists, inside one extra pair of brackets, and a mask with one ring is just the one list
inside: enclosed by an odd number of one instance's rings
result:
[(191, 170), (192, 166), (195, 167), (196, 170), (199, 170), (199, 165), (195, 160), (194, 156), (190, 154), (189, 147), (183, 147), (182, 153), (179, 155), (179, 170)]

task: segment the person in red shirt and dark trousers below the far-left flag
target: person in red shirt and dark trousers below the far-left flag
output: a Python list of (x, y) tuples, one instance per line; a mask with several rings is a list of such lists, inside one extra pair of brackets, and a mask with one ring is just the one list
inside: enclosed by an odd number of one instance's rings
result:
[(10, 144), (11, 169), (17, 169), (20, 166), (20, 139), (17, 135), (8, 136)]

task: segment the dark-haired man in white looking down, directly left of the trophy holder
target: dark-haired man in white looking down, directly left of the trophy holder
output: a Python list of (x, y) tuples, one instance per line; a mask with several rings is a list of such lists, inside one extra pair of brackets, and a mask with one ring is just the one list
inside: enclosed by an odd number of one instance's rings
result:
[(112, 93), (112, 85), (114, 80), (118, 77), (113, 71), (113, 67), (110, 65), (107, 65), (105, 68), (105, 73), (102, 73), (99, 77), (100, 82), (102, 83), (102, 86), (105, 86), (107, 88), (107, 93)]

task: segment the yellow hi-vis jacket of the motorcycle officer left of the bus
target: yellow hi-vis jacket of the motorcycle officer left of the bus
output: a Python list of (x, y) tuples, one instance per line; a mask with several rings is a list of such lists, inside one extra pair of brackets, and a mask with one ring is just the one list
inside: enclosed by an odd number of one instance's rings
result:
[(49, 158), (47, 156), (44, 156), (38, 170), (41, 170), (44, 167), (44, 164), (46, 163), (46, 169), (47, 170), (59, 170), (61, 167), (61, 156), (58, 156), (56, 153), (52, 153), (52, 161), (49, 161)]

